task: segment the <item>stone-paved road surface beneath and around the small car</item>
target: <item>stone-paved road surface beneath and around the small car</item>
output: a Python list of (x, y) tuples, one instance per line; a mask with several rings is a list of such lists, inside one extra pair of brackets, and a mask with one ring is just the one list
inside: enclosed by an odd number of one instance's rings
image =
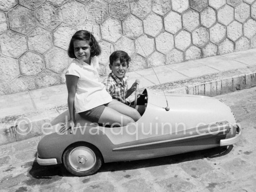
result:
[(217, 96), (243, 127), (234, 146), (163, 158), (108, 163), (88, 177), (35, 162), (40, 137), (0, 146), (0, 191), (255, 192), (256, 88)]

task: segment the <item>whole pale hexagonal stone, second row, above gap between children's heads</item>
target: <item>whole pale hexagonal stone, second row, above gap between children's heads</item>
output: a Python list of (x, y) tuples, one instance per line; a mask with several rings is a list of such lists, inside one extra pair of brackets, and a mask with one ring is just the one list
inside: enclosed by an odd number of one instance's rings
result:
[(103, 40), (115, 43), (122, 36), (121, 21), (108, 18), (101, 24), (101, 36)]

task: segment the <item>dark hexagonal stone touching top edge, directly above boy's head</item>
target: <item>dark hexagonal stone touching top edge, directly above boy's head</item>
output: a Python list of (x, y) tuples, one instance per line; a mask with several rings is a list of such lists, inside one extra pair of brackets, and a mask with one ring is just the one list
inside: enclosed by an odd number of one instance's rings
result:
[(113, 0), (109, 3), (108, 7), (109, 15), (118, 20), (123, 20), (128, 16), (128, 14), (130, 14), (130, 5), (128, 0)]

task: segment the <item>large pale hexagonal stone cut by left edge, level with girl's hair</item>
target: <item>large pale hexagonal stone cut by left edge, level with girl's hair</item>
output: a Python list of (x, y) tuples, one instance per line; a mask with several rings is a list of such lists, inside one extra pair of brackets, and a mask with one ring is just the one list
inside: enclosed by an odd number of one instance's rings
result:
[(0, 36), (2, 54), (18, 59), (27, 51), (27, 40), (24, 35), (7, 31)]

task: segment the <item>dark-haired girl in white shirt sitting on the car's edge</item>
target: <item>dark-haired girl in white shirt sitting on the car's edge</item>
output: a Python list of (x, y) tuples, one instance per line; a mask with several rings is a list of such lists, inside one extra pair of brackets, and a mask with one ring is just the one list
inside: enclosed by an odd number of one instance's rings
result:
[(137, 110), (112, 99), (99, 77), (97, 56), (101, 47), (93, 34), (81, 30), (74, 33), (68, 47), (68, 56), (74, 58), (66, 72), (67, 105), (70, 119), (60, 132), (74, 130), (74, 112), (94, 123), (119, 123), (126, 126), (140, 119)]

